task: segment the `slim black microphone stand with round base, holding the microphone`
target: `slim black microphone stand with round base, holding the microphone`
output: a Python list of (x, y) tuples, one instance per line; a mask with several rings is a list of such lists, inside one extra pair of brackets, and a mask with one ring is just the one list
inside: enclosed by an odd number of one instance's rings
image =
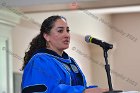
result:
[(120, 93), (122, 90), (113, 90), (112, 87), (112, 82), (111, 82), (111, 75), (110, 75), (110, 65), (108, 64), (108, 50), (113, 48), (113, 45), (109, 45), (106, 42), (102, 42), (100, 45), (103, 48), (104, 51), (104, 58), (105, 58), (105, 70), (107, 74), (107, 79), (108, 79), (108, 86), (109, 86), (109, 91), (106, 91), (104, 93)]

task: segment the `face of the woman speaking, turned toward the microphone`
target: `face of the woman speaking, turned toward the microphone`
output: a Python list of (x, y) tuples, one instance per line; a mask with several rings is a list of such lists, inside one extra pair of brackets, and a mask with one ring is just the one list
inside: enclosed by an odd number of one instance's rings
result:
[(49, 48), (52, 50), (63, 51), (67, 49), (70, 43), (70, 33), (67, 22), (64, 19), (57, 19), (50, 34), (46, 34), (45, 38), (49, 44)]

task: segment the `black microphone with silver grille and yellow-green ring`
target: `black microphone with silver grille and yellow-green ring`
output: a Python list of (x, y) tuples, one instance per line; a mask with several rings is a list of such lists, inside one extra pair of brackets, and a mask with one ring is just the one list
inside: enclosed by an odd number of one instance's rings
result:
[(113, 48), (112, 44), (109, 44), (109, 43), (104, 42), (102, 40), (99, 40), (97, 38), (91, 37), (90, 35), (85, 36), (85, 41), (87, 43), (94, 43), (94, 44), (100, 45), (104, 49), (112, 49)]

